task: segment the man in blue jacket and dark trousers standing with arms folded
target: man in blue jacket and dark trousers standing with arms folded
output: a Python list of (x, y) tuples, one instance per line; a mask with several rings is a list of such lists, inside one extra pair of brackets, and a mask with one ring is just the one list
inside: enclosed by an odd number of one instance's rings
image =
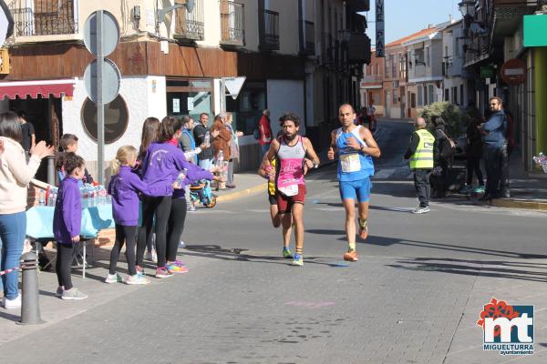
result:
[(482, 133), (484, 167), (486, 168), (486, 189), (481, 201), (490, 200), (500, 194), (501, 163), (503, 147), (507, 143), (507, 116), (501, 107), (501, 98), (490, 97), (490, 118), (480, 124)]

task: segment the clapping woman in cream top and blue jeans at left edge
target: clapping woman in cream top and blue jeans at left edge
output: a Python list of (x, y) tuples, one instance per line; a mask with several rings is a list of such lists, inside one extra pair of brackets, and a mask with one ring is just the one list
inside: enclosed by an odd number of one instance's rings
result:
[[(26, 190), (35, 176), (42, 158), (53, 156), (54, 148), (41, 141), (31, 149), (26, 162), (25, 149), (21, 147), (21, 126), (15, 113), (0, 114), (0, 238), (2, 260), (0, 270), (15, 268), (23, 251), (26, 234)], [(17, 290), (18, 271), (2, 276), (4, 286), (3, 306), (20, 308), (21, 297)]]

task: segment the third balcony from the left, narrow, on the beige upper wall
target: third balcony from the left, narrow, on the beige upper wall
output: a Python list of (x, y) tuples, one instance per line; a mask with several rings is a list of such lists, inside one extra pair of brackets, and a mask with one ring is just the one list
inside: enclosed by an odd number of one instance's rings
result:
[(224, 45), (244, 45), (244, 5), (221, 0), (221, 42)]

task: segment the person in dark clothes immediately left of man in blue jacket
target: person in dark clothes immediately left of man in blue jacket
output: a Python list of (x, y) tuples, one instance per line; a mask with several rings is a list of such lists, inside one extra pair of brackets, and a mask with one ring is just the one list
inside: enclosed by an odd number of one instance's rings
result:
[[(482, 156), (482, 138), (480, 136), (479, 126), (483, 122), (480, 111), (476, 106), (468, 106), (467, 110), (470, 123), (467, 127), (467, 147), (466, 164), (467, 164), (467, 180), (465, 187), (461, 189), (461, 193), (467, 194), (470, 192), (484, 193), (484, 178), (480, 170), (480, 157)], [(477, 175), (478, 186), (473, 188), (473, 172)]]

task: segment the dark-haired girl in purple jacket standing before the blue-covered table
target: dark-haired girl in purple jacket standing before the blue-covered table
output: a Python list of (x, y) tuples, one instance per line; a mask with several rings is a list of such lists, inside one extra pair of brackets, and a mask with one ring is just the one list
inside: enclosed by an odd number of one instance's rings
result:
[(56, 273), (59, 287), (56, 296), (61, 299), (85, 299), (88, 295), (72, 287), (70, 264), (73, 244), (79, 242), (82, 204), (78, 181), (84, 177), (84, 159), (74, 153), (65, 156), (65, 177), (59, 184), (53, 215), (53, 235), (57, 241)]

